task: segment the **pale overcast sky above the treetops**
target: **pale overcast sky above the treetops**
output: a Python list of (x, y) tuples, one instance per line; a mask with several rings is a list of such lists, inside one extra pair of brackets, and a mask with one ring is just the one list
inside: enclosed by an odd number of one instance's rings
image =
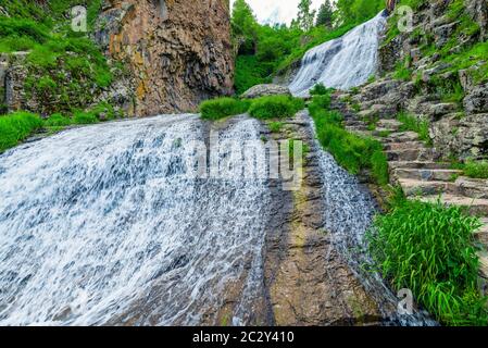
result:
[[(287, 23), (297, 16), (300, 0), (246, 0), (254, 11), (260, 23)], [(313, 8), (318, 9), (323, 0), (312, 0)], [(230, 0), (234, 4), (234, 0)]]

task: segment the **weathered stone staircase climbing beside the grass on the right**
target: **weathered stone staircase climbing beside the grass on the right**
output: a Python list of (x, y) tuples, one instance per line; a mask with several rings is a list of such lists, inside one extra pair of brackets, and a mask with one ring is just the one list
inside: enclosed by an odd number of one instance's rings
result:
[[(390, 181), (398, 185), (409, 199), (426, 202), (440, 201), (447, 206), (468, 208), (481, 217), (484, 226), (476, 239), (488, 250), (488, 181), (462, 176), (462, 171), (439, 161), (434, 148), (427, 147), (413, 132), (401, 132), (397, 120), (379, 120), (371, 130), (356, 116), (346, 116), (348, 130), (379, 140), (388, 158)], [(488, 252), (480, 252), (480, 273), (488, 282)]]

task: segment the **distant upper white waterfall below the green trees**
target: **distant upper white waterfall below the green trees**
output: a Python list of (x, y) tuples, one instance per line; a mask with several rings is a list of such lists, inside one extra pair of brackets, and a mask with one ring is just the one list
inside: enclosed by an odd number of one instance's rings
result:
[(355, 27), (342, 37), (308, 51), (289, 88), (295, 96), (306, 97), (316, 84), (348, 89), (360, 86), (376, 72), (379, 36), (386, 13)]

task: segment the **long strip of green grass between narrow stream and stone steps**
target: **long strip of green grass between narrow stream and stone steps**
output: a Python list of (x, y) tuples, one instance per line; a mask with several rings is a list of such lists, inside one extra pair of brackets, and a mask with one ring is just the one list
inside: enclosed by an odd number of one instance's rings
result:
[(329, 99), (327, 103), (325, 97), (314, 97), (309, 105), (310, 114), (315, 123), (316, 136), (323, 148), (351, 174), (356, 175), (367, 169), (376, 183), (388, 184), (388, 163), (381, 144), (345, 129), (342, 115), (328, 109)]

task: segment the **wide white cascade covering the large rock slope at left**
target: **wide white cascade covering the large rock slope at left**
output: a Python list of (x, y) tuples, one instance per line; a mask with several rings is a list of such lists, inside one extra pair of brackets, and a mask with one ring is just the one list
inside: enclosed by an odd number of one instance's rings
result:
[[(203, 128), (158, 116), (0, 156), (0, 325), (198, 324), (242, 278), (251, 300), (267, 187), (179, 175), (182, 144)], [(259, 123), (238, 119), (220, 137), (259, 139)]]

